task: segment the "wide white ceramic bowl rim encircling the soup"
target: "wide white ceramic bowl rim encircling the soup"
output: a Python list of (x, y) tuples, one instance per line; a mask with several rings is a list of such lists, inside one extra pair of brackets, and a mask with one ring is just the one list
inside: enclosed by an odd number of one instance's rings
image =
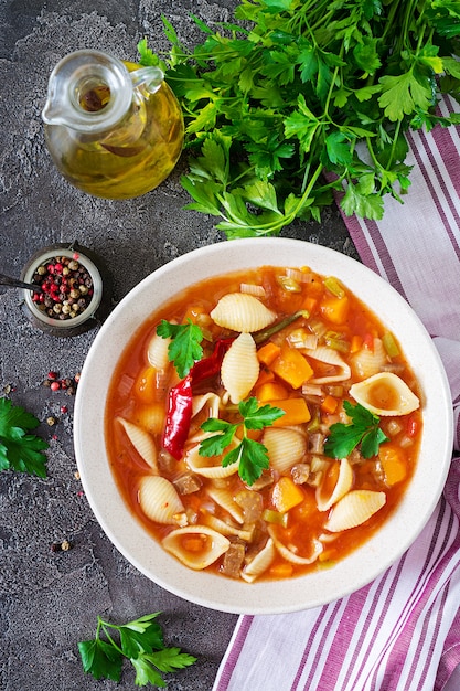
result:
[[(130, 513), (111, 475), (104, 412), (115, 365), (142, 321), (188, 285), (263, 265), (310, 266), (334, 275), (395, 333), (424, 395), (424, 433), (416, 472), (402, 503), (363, 546), (329, 570), (290, 581), (247, 584), (193, 572), (162, 550)], [(315, 607), (364, 586), (414, 542), (441, 495), (452, 450), (452, 406), (439, 355), (425, 327), (385, 280), (354, 259), (307, 242), (254, 238), (223, 242), (153, 272), (116, 307), (83, 368), (75, 406), (75, 450), (83, 488), (115, 546), (158, 585), (196, 604), (231, 613), (276, 614)]]

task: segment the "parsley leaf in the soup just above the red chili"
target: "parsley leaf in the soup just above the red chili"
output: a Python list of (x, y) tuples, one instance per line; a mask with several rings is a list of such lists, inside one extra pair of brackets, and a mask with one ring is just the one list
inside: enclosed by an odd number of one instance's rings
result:
[(162, 319), (157, 327), (157, 333), (161, 338), (171, 339), (168, 358), (174, 363), (179, 376), (183, 379), (203, 355), (201, 347), (203, 331), (191, 319), (188, 319), (186, 323), (171, 323)]

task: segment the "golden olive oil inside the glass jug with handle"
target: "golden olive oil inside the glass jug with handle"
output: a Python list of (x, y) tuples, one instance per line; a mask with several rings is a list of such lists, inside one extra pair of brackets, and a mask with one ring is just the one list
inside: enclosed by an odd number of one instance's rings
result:
[[(104, 111), (107, 85), (92, 86), (79, 97), (88, 113)], [(127, 115), (106, 132), (81, 132), (46, 125), (54, 163), (76, 188), (108, 199), (129, 199), (154, 189), (174, 168), (183, 143), (183, 119), (164, 82), (154, 94), (135, 96)]]

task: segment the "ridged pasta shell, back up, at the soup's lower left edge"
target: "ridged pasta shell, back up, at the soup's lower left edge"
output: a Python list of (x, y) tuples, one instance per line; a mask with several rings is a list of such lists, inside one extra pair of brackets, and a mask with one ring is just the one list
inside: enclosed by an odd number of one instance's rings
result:
[(139, 482), (139, 504), (143, 513), (157, 523), (178, 524), (184, 512), (183, 503), (172, 482), (159, 475), (147, 475)]

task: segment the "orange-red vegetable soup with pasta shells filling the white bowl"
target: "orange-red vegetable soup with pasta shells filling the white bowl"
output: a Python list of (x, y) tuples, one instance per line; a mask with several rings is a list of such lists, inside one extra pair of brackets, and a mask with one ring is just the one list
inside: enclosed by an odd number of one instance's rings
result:
[(261, 267), (192, 286), (115, 372), (108, 455), (130, 510), (182, 564), (247, 583), (331, 566), (417, 463), (420, 392), (341, 281)]

